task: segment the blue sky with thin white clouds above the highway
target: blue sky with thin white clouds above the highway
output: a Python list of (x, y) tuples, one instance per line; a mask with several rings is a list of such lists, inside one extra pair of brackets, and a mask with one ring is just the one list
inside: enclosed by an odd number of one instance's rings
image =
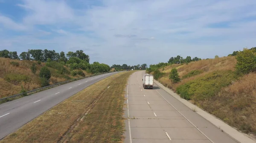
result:
[(0, 50), (157, 64), (256, 47), (256, 0), (0, 0)]

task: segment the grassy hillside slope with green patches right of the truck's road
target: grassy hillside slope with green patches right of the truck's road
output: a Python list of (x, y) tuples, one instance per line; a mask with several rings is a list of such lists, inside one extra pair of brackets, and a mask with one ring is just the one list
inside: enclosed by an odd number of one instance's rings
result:
[[(256, 73), (236, 73), (235, 56), (158, 68), (164, 86), (248, 135), (256, 135)], [(176, 68), (180, 82), (169, 79)], [(160, 72), (159, 72), (160, 71)], [(151, 72), (150, 74), (155, 74)]]

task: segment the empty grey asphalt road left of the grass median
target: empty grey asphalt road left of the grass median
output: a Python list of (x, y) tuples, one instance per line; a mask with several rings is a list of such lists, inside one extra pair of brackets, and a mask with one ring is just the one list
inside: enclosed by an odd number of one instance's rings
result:
[[(117, 72), (116, 72), (117, 73)], [(0, 104), (0, 139), (84, 88), (116, 73), (93, 76)]]

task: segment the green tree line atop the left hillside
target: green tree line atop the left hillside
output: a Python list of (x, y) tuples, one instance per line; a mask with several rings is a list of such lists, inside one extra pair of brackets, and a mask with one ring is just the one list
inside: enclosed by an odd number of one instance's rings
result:
[[(47, 67), (52, 67), (64, 71), (63, 65), (67, 65), (71, 70), (86, 70), (91, 73), (104, 73), (110, 71), (110, 66), (107, 64), (100, 64), (93, 62), (89, 64), (90, 56), (85, 54), (83, 50), (76, 50), (76, 52), (69, 51), (67, 54), (64, 51), (60, 53), (55, 50), (28, 50), (17, 55), (16, 51), (1, 50), (0, 57), (17, 59), (17, 60), (33, 60), (38, 62), (46, 62)], [(76, 75), (76, 74), (73, 74)]]

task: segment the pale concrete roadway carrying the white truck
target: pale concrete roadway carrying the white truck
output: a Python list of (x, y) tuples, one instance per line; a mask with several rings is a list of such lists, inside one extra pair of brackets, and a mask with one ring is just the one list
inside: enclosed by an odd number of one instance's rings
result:
[(144, 89), (143, 74), (128, 80), (125, 143), (238, 143), (156, 84)]

